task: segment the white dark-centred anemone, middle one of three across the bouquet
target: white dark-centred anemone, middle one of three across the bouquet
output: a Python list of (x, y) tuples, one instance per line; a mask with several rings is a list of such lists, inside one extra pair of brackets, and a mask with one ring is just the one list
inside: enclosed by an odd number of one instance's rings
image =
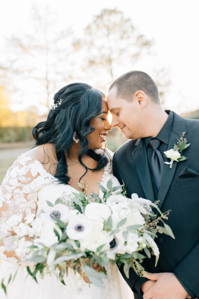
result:
[(93, 229), (93, 223), (83, 214), (74, 215), (69, 219), (66, 234), (72, 240), (88, 239)]

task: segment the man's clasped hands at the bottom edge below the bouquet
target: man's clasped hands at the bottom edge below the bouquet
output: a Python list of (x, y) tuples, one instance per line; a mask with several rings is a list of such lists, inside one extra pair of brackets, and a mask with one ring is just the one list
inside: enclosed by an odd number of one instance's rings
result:
[[(146, 278), (155, 282), (144, 292), (144, 299), (186, 299), (191, 298), (173, 273), (147, 273)], [(146, 281), (148, 283), (148, 281)], [(145, 284), (145, 283), (144, 283)], [(144, 286), (143, 284), (143, 286)], [(142, 287), (143, 287), (142, 286)]]

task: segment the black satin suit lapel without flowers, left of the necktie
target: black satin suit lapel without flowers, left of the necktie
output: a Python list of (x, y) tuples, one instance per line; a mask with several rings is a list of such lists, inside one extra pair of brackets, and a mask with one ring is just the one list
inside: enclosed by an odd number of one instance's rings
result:
[[(148, 159), (146, 154), (146, 147), (143, 139), (138, 139), (135, 143), (135, 150), (132, 152), (135, 169), (137, 171), (139, 180), (146, 198), (155, 201), (151, 176), (149, 172)], [(139, 194), (138, 194), (139, 196)]]

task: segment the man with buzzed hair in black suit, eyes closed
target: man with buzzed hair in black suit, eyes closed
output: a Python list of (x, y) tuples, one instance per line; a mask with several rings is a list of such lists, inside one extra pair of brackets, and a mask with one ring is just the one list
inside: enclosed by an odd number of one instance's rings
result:
[[(164, 111), (158, 87), (141, 71), (116, 79), (107, 104), (111, 126), (130, 139), (113, 156), (115, 176), (124, 181), (128, 197), (137, 193), (158, 200), (162, 212), (171, 210), (166, 223), (175, 235), (158, 234), (160, 258), (156, 267), (153, 258), (144, 260), (146, 278), (132, 268), (129, 279), (121, 273), (135, 299), (199, 298), (199, 120)], [(170, 168), (164, 152), (174, 148), (183, 132), (190, 146), (181, 154), (188, 159), (174, 161)]]

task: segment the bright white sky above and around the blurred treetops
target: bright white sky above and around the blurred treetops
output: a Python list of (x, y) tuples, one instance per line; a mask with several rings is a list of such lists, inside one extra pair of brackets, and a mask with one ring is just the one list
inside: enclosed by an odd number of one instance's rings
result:
[[(46, 4), (58, 14), (60, 29), (71, 26), (79, 37), (102, 9), (122, 11), (142, 34), (155, 42), (154, 55), (135, 66), (149, 75), (154, 66), (165, 69), (171, 81), (166, 108), (177, 113), (199, 108), (198, 0), (7, 0), (1, 3), (0, 44), (5, 36), (28, 30), (32, 5), (42, 10)], [(15, 106), (17, 109), (21, 107)]]

